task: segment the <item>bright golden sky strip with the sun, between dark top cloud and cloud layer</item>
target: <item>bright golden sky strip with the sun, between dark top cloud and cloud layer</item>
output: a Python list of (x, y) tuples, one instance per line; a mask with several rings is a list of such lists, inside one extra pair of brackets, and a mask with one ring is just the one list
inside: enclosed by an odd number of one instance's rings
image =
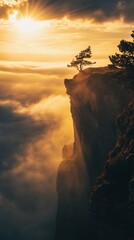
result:
[[(95, 66), (109, 63), (109, 55), (118, 51), (121, 39), (130, 37), (132, 24), (121, 19), (96, 23), (91, 19), (36, 20), (36, 12), (14, 10), (0, 29), (1, 60), (45, 62), (66, 67), (82, 49), (90, 45)], [(129, 40), (129, 39), (128, 39)], [(110, 48), (109, 48), (110, 45)], [(3, 58), (3, 54), (6, 57)]]

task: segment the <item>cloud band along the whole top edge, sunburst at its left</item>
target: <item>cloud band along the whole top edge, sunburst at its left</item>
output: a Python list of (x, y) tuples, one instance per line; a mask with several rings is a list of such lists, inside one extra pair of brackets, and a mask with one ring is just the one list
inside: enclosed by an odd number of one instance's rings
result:
[(97, 22), (120, 18), (123, 18), (128, 22), (134, 21), (133, 0), (24, 0), (11, 2), (12, 3), (10, 3), (10, 1), (3, 1), (0, 12), (1, 17), (7, 17), (8, 10), (14, 9), (17, 6), (20, 7), (19, 10), (22, 14), (25, 14), (26, 9), (29, 9), (29, 15), (33, 15), (39, 19), (70, 16), (77, 18), (89, 18)]

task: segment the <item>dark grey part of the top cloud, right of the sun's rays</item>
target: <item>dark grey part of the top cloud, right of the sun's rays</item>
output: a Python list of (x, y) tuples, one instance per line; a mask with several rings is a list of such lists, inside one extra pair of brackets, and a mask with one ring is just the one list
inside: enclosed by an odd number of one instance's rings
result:
[[(35, 1), (29, 0), (29, 4)], [(42, 16), (45, 15), (63, 17), (93, 18), (95, 21), (107, 21), (111, 19), (124, 18), (126, 21), (133, 21), (134, 1), (133, 0), (80, 0), (80, 1), (38, 1), (38, 5), (44, 7)]]

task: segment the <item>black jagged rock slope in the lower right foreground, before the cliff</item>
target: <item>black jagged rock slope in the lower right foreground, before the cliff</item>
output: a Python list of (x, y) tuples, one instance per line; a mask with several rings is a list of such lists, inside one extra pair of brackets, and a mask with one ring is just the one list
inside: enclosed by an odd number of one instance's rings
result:
[[(134, 239), (134, 102), (119, 116), (117, 129), (117, 145), (91, 197), (98, 239), (104, 240)], [(109, 227), (113, 229), (110, 238)]]

